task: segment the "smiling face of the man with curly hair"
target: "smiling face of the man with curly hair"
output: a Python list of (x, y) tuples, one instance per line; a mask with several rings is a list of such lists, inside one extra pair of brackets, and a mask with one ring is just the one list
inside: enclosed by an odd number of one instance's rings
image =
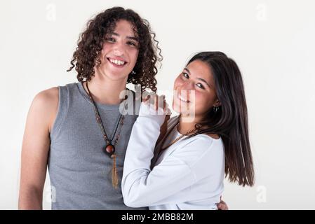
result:
[(119, 20), (112, 34), (105, 37), (100, 52), (101, 64), (96, 69), (112, 80), (127, 78), (137, 62), (138, 45), (133, 25), (126, 20)]

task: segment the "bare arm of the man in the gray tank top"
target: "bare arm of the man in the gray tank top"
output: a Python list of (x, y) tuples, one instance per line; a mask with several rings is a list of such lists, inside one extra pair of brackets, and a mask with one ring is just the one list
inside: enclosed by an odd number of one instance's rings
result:
[(27, 115), (22, 143), (18, 209), (42, 209), (46, 178), (49, 133), (58, 111), (58, 87), (34, 97)]

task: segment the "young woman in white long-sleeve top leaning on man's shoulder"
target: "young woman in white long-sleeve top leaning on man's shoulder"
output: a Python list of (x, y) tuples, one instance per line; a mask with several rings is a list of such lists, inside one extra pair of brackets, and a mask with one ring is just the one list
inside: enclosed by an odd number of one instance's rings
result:
[[(180, 116), (168, 120), (158, 144), (166, 110), (142, 102), (126, 152), (123, 200), (149, 209), (217, 209), (224, 173), (241, 186), (254, 183), (241, 72), (224, 53), (201, 52), (176, 78), (174, 90)], [(154, 98), (157, 105), (161, 97)]]

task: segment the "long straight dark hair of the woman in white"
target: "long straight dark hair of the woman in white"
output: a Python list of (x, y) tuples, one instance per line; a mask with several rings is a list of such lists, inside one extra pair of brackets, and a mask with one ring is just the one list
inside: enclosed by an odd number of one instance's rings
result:
[(199, 130), (196, 134), (219, 134), (224, 143), (225, 174), (229, 176), (229, 181), (253, 186), (253, 158), (241, 71), (234, 60), (222, 52), (200, 52), (187, 64), (195, 60), (210, 67), (217, 99), (221, 103), (218, 109), (210, 108), (202, 122), (196, 125)]

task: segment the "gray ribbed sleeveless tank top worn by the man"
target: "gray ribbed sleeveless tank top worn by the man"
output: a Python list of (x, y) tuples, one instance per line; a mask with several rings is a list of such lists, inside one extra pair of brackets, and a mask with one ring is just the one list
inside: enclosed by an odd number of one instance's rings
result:
[[(119, 118), (119, 104), (98, 104), (109, 138)], [(51, 130), (48, 172), (52, 209), (133, 209), (123, 204), (123, 161), (136, 115), (126, 115), (116, 144), (119, 188), (112, 186), (112, 159), (102, 148), (105, 140), (93, 106), (81, 83), (59, 87), (59, 107)], [(147, 208), (139, 208), (147, 209)]]

